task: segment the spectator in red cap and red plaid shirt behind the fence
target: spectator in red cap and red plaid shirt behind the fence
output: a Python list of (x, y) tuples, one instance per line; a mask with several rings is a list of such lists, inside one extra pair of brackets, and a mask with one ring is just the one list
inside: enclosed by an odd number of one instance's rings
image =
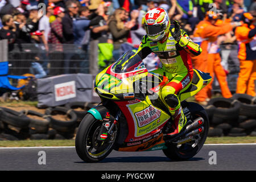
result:
[(54, 15), (56, 16), (56, 20), (51, 23), (51, 33), (48, 38), (48, 42), (54, 44), (51, 49), (50, 60), (51, 60), (51, 69), (49, 71), (49, 75), (61, 75), (63, 74), (63, 70), (60, 68), (63, 67), (63, 27), (62, 27), (62, 19), (65, 16), (65, 10), (62, 7), (55, 7)]

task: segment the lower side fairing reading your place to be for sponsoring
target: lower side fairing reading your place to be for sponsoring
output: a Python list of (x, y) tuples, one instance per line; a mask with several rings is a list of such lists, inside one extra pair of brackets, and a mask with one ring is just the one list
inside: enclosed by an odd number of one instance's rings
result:
[[(162, 128), (170, 115), (152, 105), (148, 97), (145, 101), (119, 101), (115, 104), (125, 115), (129, 128), (129, 134), (119, 151), (161, 150), (165, 147)], [(138, 117), (143, 117), (143, 121)]]

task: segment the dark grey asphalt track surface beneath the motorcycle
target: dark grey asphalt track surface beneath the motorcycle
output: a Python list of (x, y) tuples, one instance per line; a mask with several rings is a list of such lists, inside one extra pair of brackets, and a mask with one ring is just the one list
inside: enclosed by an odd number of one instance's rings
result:
[[(46, 154), (46, 164), (39, 164)], [(216, 153), (216, 164), (211, 151)], [(117, 152), (112, 151), (100, 163), (85, 163), (76, 154), (75, 147), (24, 147), (0, 148), (0, 170), (68, 170), (68, 171), (198, 171), (198, 170), (256, 170), (256, 144), (209, 144), (192, 159), (174, 162), (163, 152)]]

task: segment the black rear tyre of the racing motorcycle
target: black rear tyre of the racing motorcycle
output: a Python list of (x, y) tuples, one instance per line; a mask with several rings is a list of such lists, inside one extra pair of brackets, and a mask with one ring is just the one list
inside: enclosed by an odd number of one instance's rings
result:
[[(195, 108), (194, 108), (195, 109)], [(202, 117), (204, 119), (204, 131), (192, 137), (192, 140), (187, 143), (166, 144), (167, 149), (164, 149), (164, 154), (171, 160), (188, 160), (195, 156), (203, 147), (205, 140), (207, 139), (209, 130), (209, 120), (205, 110), (195, 111), (192, 114), (192, 121), (196, 118)], [(195, 130), (195, 129), (193, 129)]]

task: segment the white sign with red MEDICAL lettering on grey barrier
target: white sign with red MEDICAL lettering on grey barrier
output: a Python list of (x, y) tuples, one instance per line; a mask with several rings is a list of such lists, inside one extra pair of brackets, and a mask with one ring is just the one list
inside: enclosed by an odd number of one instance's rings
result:
[(76, 82), (69, 81), (54, 85), (55, 101), (63, 101), (76, 97)]

